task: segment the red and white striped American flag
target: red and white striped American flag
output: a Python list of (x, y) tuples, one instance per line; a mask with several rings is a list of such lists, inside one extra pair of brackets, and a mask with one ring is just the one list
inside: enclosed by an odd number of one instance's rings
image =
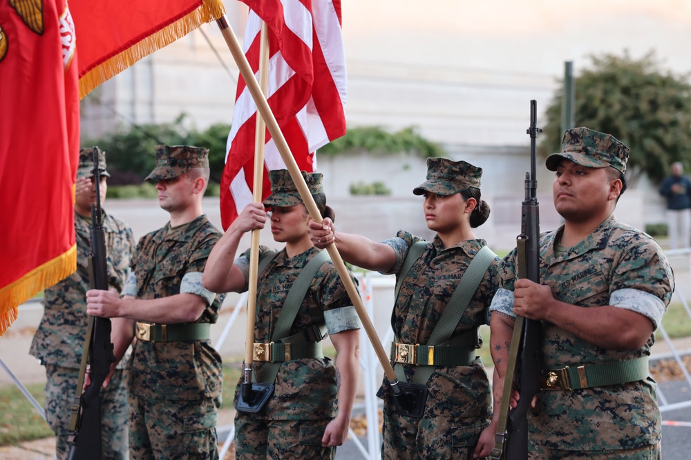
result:
[[(345, 134), (345, 51), (340, 0), (241, 0), (249, 6), (245, 56), (259, 67), (261, 21), (269, 29), (267, 101), (299, 168), (316, 170), (314, 152)], [(256, 104), (238, 80), (235, 112), (221, 179), (221, 223), (226, 230), (252, 202)], [(269, 132), (262, 197), (271, 192), (267, 170), (285, 168)]]

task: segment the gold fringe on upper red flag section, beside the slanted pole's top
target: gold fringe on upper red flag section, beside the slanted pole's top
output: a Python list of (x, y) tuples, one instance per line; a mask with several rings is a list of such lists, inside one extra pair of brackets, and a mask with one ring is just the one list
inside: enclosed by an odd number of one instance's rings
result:
[[(202, 0), (200, 6), (195, 10), (86, 72), (79, 79), (79, 100), (84, 99), (86, 94), (94, 88), (115, 77), (133, 63), (168, 46), (173, 41), (181, 39), (203, 23), (216, 21), (223, 14), (225, 14), (225, 8), (223, 8), (223, 3), (220, 0)], [(77, 43), (78, 49), (79, 44)]]

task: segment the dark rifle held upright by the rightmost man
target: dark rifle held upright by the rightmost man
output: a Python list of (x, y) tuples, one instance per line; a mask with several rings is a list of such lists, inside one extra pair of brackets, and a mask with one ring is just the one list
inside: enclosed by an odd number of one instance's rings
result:
[[(540, 282), (540, 213), (537, 199), (536, 138), (542, 132), (536, 126), (537, 103), (530, 101), (530, 172), (525, 176), (525, 199), (521, 205), (521, 233), (516, 238), (516, 268), (519, 278)], [(540, 390), (542, 368), (542, 323), (516, 317), (509, 348), (509, 363), (504, 376), (493, 460), (525, 460), (528, 458), (528, 419), (531, 401)], [(518, 406), (509, 411), (511, 391), (518, 390)]]

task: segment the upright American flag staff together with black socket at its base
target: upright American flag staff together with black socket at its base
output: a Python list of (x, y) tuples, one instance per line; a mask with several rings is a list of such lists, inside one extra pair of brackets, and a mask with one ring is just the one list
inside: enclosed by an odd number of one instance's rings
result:
[[(266, 94), (269, 81), (269, 33), (264, 21), (261, 23), (259, 36), (259, 86)], [(252, 76), (254, 81), (254, 75)], [(255, 82), (256, 83), (256, 82)], [(261, 203), (264, 183), (264, 146), (265, 125), (262, 117), (257, 117), (254, 135), (254, 182), (252, 184), (252, 202)], [(251, 233), (249, 246), (249, 289), (247, 292), (247, 328), (245, 329), (245, 369), (244, 381), (236, 409), (240, 412), (257, 412), (274, 391), (271, 383), (252, 383), (252, 361), (254, 361), (254, 320), (256, 316), (257, 279), (259, 267), (259, 229)]]

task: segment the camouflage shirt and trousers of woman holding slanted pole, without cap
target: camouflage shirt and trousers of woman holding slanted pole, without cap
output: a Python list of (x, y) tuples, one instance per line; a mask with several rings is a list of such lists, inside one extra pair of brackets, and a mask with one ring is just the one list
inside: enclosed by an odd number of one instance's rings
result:
[[(408, 232), (385, 241), (396, 251), (390, 270), (397, 277), (410, 246), (422, 241)], [(444, 248), (439, 237), (427, 244), (401, 286), (394, 306), (394, 332), (401, 343), (427, 343), (448, 299), (477, 251), (482, 239)], [(484, 274), (480, 288), (456, 326), (453, 336), (487, 323), (487, 309), (498, 286), (498, 262)], [(390, 274), (388, 273), (388, 274)], [(482, 338), (477, 338), (477, 348)], [(404, 364), (408, 381), (417, 366)], [(388, 381), (377, 394), (384, 399), (384, 459), (470, 459), (480, 432), (491, 420), (489, 379), (480, 357), (470, 366), (435, 366), (427, 382), (428, 397), (422, 419), (395, 412)]]

